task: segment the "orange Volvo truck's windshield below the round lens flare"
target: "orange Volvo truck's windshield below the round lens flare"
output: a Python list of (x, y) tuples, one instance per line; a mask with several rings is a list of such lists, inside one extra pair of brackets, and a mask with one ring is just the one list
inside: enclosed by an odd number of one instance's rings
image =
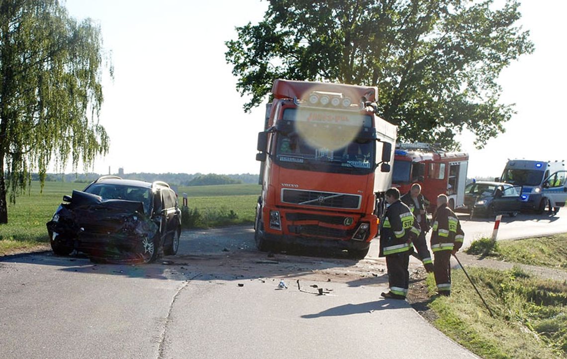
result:
[(375, 141), (356, 139), (340, 149), (314, 148), (297, 133), (278, 132), (276, 158), (284, 167), (314, 171), (374, 170)]

